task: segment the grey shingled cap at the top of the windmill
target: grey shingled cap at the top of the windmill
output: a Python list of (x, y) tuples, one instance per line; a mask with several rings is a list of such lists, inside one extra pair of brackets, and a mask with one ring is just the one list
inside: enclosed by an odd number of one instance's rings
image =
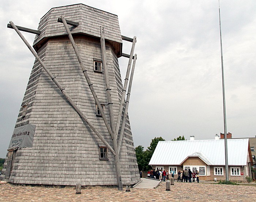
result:
[(71, 34), (82, 33), (100, 38), (100, 27), (103, 26), (106, 40), (122, 43), (117, 15), (84, 4), (75, 4), (52, 8), (41, 18), (38, 26), (41, 34), (35, 37), (34, 47), (46, 38), (67, 35), (66, 30), (63, 29), (63, 23), (57, 22), (61, 15), (66, 20), (79, 23), (78, 27), (69, 26)]

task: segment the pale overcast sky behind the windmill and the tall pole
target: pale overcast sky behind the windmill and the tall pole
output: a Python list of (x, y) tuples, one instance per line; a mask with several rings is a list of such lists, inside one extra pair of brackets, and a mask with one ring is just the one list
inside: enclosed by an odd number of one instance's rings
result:
[[(52, 7), (83, 3), (118, 15), (137, 36), (129, 104), (135, 147), (154, 137), (213, 139), (224, 132), (218, 0), (0, 0), (0, 157), (4, 158), (34, 63), (16, 25), (37, 29)], [(256, 135), (256, 1), (221, 0), (227, 132)], [(34, 35), (23, 33), (33, 43)], [(129, 54), (131, 43), (124, 42)], [(125, 74), (128, 58), (120, 58)], [(124, 75), (123, 75), (124, 77)]]

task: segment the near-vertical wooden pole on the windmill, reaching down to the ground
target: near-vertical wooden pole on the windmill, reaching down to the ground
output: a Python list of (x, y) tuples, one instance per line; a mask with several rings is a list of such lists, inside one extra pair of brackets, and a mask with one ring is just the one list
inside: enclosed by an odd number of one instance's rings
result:
[[(108, 98), (110, 124), (111, 124), (112, 131), (116, 131), (115, 125), (114, 125), (113, 103), (112, 103), (111, 92), (110, 92), (111, 89), (110, 89), (110, 85), (109, 85), (109, 72), (108, 72), (108, 64), (107, 64), (107, 56), (106, 56), (104, 28), (100, 27), (100, 29), (101, 29), (101, 53), (102, 53), (103, 71), (104, 71), (105, 82), (106, 82), (106, 93), (107, 93), (107, 98)], [(117, 136), (115, 134), (113, 134), (113, 136), (111, 136), (111, 137), (113, 140), (114, 150), (117, 151), (117, 148), (118, 148)], [(117, 178), (118, 190), (123, 190), (120, 159), (119, 159), (118, 152), (116, 152), (116, 156), (114, 156), (114, 161), (115, 161), (115, 166), (116, 166), (116, 178)]]

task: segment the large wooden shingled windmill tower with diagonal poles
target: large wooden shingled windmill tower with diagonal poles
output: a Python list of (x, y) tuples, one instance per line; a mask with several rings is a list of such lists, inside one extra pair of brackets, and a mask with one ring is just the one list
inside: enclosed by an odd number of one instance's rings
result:
[[(136, 37), (121, 36), (116, 15), (84, 4), (50, 9), (38, 30), (12, 22), (8, 27), (36, 59), (1, 179), (17, 184), (117, 185), (119, 190), (127, 180), (139, 182), (127, 114)], [(19, 30), (36, 34), (36, 52)], [(132, 42), (130, 55), (122, 53), (122, 40)], [(124, 85), (121, 56), (129, 57)], [(31, 143), (26, 144), (27, 137)]]

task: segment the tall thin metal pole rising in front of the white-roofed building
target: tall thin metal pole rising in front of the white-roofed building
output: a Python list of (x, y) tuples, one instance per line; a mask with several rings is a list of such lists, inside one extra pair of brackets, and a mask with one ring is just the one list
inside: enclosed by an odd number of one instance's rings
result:
[(226, 102), (225, 102), (225, 86), (224, 86), (224, 68), (222, 53), (222, 36), (221, 36), (221, 7), (219, 5), (219, 33), (221, 37), (221, 69), (222, 69), (222, 92), (223, 92), (223, 116), (224, 116), (224, 142), (225, 142), (225, 170), (226, 180), (229, 180), (229, 165), (227, 160), (227, 123), (226, 123)]

